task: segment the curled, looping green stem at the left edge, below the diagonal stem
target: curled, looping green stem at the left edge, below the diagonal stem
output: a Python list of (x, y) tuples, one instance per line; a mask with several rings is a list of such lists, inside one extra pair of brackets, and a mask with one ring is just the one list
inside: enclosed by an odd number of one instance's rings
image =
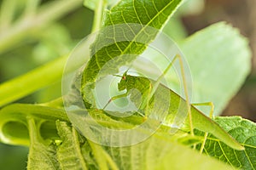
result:
[[(27, 127), (27, 120), (30, 118), (52, 124), (55, 124), (56, 120), (68, 122), (67, 114), (63, 109), (29, 104), (8, 105), (0, 110), (0, 141), (5, 144), (28, 145), (29, 138), (24, 136), (26, 130), (20, 129), (20, 126), (9, 126), (9, 122), (21, 123)], [(42, 131), (40, 134), (49, 134), (50, 129), (51, 127), (45, 127), (44, 132)], [(12, 132), (12, 135), (9, 132)], [(20, 138), (20, 134), (23, 134), (23, 138)]]

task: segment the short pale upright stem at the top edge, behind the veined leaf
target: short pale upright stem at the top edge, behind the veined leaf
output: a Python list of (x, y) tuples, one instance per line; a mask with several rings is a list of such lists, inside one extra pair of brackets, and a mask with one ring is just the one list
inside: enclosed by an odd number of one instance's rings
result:
[(104, 14), (104, 9), (106, 8), (107, 3), (105, 0), (98, 0), (96, 4), (96, 9), (94, 12), (94, 20), (91, 28), (91, 32), (99, 31), (102, 26), (102, 18)]

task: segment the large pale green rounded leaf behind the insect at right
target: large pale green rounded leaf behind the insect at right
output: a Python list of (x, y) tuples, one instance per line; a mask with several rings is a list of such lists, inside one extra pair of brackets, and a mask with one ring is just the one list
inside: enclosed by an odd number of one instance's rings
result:
[[(196, 32), (181, 43), (193, 80), (193, 103), (212, 101), (219, 115), (238, 92), (251, 67), (247, 39), (224, 22)], [(207, 108), (201, 108), (207, 113)]]

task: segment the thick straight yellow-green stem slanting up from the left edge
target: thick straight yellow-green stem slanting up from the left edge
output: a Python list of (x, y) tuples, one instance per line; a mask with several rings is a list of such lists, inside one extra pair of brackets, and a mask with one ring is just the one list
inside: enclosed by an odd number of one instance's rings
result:
[[(68, 58), (69, 55), (67, 54), (33, 71), (29, 71), (20, 77), (15, 77), (8, 82), (0, 84), (0, 107), (16, 99), (20, 99), (27, 94), (32, 94), (40, 88), (49, 86), (53, 82), (59, 81), (63, 75), (66, 61), (69, 65), (65, 68), (64, 73), (68, 74), (72, 71), (76, 71), (81, 66), (81, 63), (86, 63), (90, 58), (89, 53), (84, 54), (84, 45), (90, 45), (90, 41), (91, 39), (88, 38), (83, 41), (83, 45), (79, 45), (75, 48), (72, 55), (76, 57)], [(82, 57), (78, 57), (81, 55)], [(56, 100), (55, 102), (60, 104), (60, 100)], [(52, 103), (49, 102), (47, 105), (52, 105)]]

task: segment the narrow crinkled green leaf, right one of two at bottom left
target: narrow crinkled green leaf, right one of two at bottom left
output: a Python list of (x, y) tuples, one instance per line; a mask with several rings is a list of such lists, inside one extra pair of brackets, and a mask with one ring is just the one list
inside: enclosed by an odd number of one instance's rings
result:
[(79, 143), (79, 134), (67, 125), (67, 122), (56, 122), (62, 143), (57, 147), (57, 159), (61, 169), (87, 169)]

